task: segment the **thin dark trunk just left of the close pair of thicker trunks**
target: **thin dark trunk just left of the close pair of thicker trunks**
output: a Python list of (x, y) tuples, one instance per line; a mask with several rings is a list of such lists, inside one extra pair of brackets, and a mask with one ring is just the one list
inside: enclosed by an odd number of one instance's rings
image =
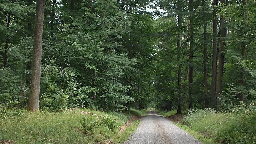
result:
[(205, 92), (205, 105), (209, 106), (207, 99), (207, 45), (206, 45), (206, 21), (205, 21), (205, 8), (204, 8), (204, 0), (202, 0), (202, 11), (203, 11), (203, 21), (204, 21), (204, 92)]

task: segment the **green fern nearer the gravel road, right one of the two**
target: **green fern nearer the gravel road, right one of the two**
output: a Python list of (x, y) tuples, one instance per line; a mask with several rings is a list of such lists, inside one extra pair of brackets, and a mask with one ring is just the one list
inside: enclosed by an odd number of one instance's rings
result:
[(120, 123), (118, 123), (118, 120), (110, 116), (102, 116), (101, 123), (102, 125), (109, 128), (111, 131), (114, 131), (120, 126)]

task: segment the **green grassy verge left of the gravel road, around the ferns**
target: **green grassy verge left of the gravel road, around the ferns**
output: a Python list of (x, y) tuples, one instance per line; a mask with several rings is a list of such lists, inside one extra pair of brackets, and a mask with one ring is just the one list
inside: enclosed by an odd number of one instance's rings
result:
[[(81, 113), (83, 111), (83, 113)], [(90, 135), (83, 132), (80, 121), (86, 116), (92, 120), (100, 120), (102, 116), (116, 119), (117, 123), (124, 124), (128, 116), (121, 113), (105, 113), (89, 109), (77, 109), (58, 113), (23, 112), (22, 116), (0, 119), (0, 140), (13, 140), (16, 144), (36, 143), (104, 143), (106, 139), (113, 139), (121, 143), (134, 132), (138, 121), (134, 122), (123, 132), (111, 131), (104, 125), (93, 129)]]

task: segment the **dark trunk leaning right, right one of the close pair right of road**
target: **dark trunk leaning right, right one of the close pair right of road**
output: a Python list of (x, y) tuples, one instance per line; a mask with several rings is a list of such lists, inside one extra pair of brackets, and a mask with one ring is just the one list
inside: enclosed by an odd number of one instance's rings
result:
[[(225, 3), (225, 0), (221, 0), (221, 3)], [(221, 33), (220, 33), (220, 48), (219, 48), (219, 72), (218, 72), (218, 97), (221, 97), (222, 92), (222, 76), (224, 69), (224, 46), (225, 46), (226, 28), (225, 28), (225, 18), (221, 17)], [(217, 110), (220, 107), (220, 100), (217, 99)]]

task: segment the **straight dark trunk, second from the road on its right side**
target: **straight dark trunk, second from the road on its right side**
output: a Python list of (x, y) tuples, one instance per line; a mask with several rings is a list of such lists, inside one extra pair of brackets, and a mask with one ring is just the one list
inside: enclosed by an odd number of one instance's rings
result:
[(192, 100), (192, 85), (193, 85), (193, 51), (194, 51), (194, 16), (193, 16), (193, 0), (189, 0), (189, 11), (190, 11), (190, 26), (189, 26), (189, 33), (190, 33), (190, 49), (189, 49), (189, 85), (188, 85), (188, 108), (191, 109), (193, 107), (193, 100)]

